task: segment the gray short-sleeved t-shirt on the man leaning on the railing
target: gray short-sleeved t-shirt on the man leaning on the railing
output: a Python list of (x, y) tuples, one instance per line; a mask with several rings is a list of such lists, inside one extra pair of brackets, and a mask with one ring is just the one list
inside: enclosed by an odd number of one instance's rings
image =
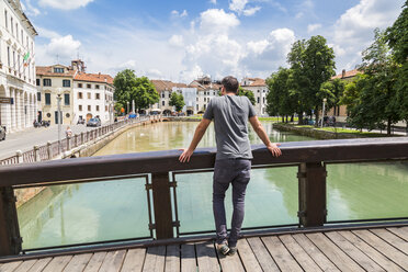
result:
[(214, 120), (217, 160), (252, 159), (248, 118), (257, 115), (247, 97), (223, 95), (209, 101), (204, 118)]

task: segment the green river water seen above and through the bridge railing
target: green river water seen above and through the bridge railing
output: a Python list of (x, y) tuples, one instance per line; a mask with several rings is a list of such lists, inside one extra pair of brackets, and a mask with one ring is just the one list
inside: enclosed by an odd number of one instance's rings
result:
[[(197, 123), (160, 123), (122, 134), (95, 156), (188, 147)], [(273, 131), (273, 141), (310, 138)], [(261, 144), (250, 132), (252, 144)], [(209, 126), (199, 147), (215, 146)], [(329, 165), (328, 220), (408, 216), (408, 163)], [(243, 227), (297, 224), (297, 168), (257, 169), (247, 191)], [(177, 174), (181, 233), (213, 230), (212, 173)], [(149, 236), (144, 178), (50, 186), (19, 209), (24, 248)], [(230, 192), (227, 216), (231, 214)]]

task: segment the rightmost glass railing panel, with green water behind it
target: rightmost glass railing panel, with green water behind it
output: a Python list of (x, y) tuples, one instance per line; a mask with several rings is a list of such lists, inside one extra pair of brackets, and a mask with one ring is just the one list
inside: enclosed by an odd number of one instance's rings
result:
[(328, 220), (408, 217), (408, 161), (327, 165)]

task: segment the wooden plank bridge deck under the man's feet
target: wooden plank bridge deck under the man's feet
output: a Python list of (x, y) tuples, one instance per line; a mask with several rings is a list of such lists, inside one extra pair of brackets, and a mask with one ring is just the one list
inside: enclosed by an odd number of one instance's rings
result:
[(234, 257), (206, 241), (14, 261), (0, 271), (408, 271), (408, 227), (246, 238)]

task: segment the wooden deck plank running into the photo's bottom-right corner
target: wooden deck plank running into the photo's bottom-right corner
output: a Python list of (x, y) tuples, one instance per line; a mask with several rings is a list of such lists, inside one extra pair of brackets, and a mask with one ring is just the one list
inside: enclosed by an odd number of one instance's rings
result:
[(366, 243), (385, 254), (388, 259), (405, 270), (408, 270), (408, 258), (398, 249), (390, 246), (388, 242), (381, 239), (378, 236), (369, 230), (353, 230), (353, 234), (363, 239)]

